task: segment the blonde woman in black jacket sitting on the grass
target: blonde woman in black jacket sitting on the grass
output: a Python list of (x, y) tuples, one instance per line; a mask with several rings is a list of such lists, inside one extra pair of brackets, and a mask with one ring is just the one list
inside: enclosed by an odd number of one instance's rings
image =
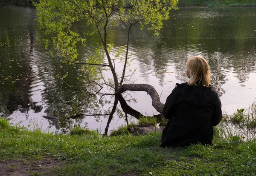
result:
[(161, 147), (212, 144), (213, 126), (222, 119), (221, 101), (210, 85), (207, 61), (189, 58), (186, 74), (189, 81), (176, 84), (163, 107), (163, 116), (169, 121), (162, 133)]

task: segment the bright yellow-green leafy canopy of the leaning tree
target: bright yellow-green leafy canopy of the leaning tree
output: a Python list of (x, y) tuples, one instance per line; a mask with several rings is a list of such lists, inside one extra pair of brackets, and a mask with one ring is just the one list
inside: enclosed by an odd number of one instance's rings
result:
[[(162, 21), (169, 18), (169, 11), (177, 8), (178, 0), (41, 0), (35, 3), (38, 23), (45, 34), (52, 36), (53, 46), (59, 56), (74, 61), (80, 42), (85, 46), (87, 34), (99, 33), (103, 46), (107, 45), (107, 26), (119, 23), (128, 28), (139, 23), (158, 35)], [(78, 31), (77, 23), (85, 22), (91, 29)], [(46, 47), (49, 40), (44, 40)], [(111, 43), (111, 42), (110, 42)], [(101, 57), (100, 57), (101, 58)], [(87, 62), (100, 63), (103, 59), (87, 58)], [(110, 62), (110, 61), (109, 61)]]

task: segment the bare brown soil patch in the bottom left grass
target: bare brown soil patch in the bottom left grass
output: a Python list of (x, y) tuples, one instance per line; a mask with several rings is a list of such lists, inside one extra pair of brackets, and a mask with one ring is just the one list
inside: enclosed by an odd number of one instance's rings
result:
[(40, 160), (8, 159), (0, 162), (0, 176), (46, 175), (52, 167), (63, 165), (63, 161), (43, 156)]

